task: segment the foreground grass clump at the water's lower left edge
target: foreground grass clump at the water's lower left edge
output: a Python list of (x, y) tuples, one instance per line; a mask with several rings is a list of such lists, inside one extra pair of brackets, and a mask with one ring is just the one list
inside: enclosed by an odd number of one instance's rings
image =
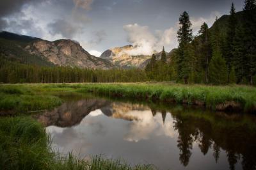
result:
[(3, 169), (154, 169), (130, 166), (102, 156), (81, 159), (50, 148), (44, 127), (28, 117), (0, 119), (0, 167)]

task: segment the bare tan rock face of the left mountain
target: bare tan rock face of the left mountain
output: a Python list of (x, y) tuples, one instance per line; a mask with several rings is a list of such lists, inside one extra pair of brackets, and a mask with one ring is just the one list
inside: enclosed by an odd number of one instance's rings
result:
[(36, 40), (27, 45), (25, 49), (29, 53), (42, 56), (58, 66), (102, 69), (112, 67), (108, 60), (92, 56), (78, 42), (72, 40), (57, 40), (55, 42)]

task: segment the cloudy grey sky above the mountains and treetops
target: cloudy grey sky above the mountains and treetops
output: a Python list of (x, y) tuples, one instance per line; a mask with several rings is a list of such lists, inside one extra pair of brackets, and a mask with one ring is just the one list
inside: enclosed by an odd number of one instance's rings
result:
[(0, 30), (76, 40), (95, 56), (128, 44), (136, 47), (132, 54), (148, 55), (177, 47), (180, 13), (189, 13), (196, 35), (232, 2), (243, 9), (243, 0), (1, 0)]

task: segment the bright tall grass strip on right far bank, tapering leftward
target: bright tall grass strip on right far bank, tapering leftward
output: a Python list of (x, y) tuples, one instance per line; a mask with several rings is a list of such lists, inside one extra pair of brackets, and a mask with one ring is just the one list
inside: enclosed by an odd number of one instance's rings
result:
[[(111, 97), (159, 100), (179, 104), (202, 105), (216, 109), (230, 105), (234, 111), (256, 112), (256, 88), (250, 86), (185, 86), (180, 84), (85, 84), (78, 91)], [(227, 102), (233, 102), (228, 104)]]

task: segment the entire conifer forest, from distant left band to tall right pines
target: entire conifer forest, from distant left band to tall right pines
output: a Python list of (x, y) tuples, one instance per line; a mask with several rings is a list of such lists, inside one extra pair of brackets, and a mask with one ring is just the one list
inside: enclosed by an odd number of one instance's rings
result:
[(93, 70), (68, 66), (38, 66), (0, 56), (0, 82), (145, 82), (184, 84), (256, 84), (256, 4), (246, 0), (242, 12), (230, 8), (227, 22), (216, 17), (193, 36), (189, 14), (179, 18), (179, 47), (170, 55), (153, 54), (145, 69)]

